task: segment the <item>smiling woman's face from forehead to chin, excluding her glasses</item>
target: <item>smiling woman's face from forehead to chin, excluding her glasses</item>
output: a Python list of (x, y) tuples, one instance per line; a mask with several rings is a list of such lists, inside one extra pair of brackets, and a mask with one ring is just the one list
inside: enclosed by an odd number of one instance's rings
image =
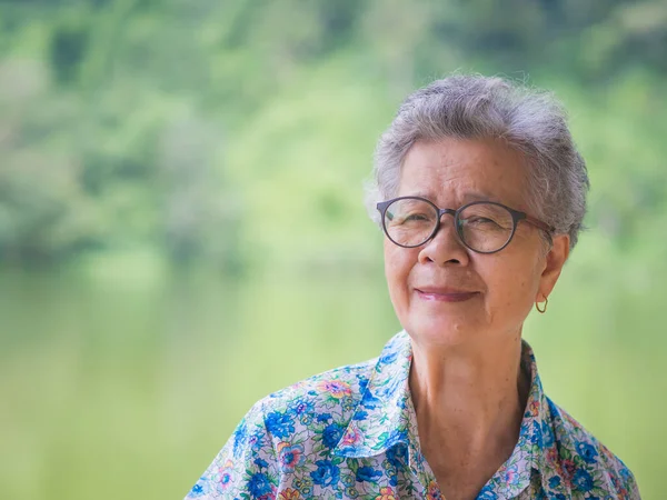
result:
[[(489, 200), (529, 213), (522, 154), (497, 140), (418, 141), (401, 170), (398, 196), (419, 196), (440, 208)], [(529, 213), (530, 214), (530, 213)], [(536, 300), (551, 292), (567, 259), (567, 236), (545, 250), (535, 227), (519, 222), (497, 253), (476, 253), (457, 239), (442, 216), (436, 237), (417, 248), (385, 238), (389, 296), (402, 327), (437, 344), (516, 337)]]

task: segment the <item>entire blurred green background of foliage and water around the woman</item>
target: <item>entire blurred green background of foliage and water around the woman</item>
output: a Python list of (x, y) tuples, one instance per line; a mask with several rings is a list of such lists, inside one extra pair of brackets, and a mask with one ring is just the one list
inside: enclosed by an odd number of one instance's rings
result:
[(667, 3), (0, 2), (0, 498), (182, 498), (257, 399), (400, 327), (362, 182), (451, 71), (552, 90), (593, 189), (532, 344), (664, 498)]

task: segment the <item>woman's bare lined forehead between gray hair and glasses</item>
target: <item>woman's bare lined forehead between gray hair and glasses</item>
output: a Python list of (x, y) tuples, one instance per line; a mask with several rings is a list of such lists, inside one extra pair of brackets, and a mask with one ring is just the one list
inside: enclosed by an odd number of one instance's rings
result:
[(417, 141), (408, 151), (398, 196), (422, 196), (440, 207), (477, 200), (526, 209), (526, 158), (496, 139)]

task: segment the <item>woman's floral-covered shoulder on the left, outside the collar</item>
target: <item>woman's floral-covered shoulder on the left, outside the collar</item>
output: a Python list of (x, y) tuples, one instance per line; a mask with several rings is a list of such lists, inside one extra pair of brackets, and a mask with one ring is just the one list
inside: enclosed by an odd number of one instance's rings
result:
[(313, 457), (327, 457), (341, 439), (376, 362), (329, 370), (257, 401), (188, 498), (245, 498), (248, 491), (261, 498), (283, 474), (319, 463)]

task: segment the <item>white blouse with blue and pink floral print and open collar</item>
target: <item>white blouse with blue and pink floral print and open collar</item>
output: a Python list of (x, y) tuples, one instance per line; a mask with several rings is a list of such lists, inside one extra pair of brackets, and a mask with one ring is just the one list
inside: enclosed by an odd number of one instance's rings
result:
[[(187, 499), (442, 499), (419, 448), (405, 331), (379, 358), (311, 377), (257, 402)], [(639, 499), (628, 468), (531, 377), (519, 440), (478, 494), (490, 499)]]

